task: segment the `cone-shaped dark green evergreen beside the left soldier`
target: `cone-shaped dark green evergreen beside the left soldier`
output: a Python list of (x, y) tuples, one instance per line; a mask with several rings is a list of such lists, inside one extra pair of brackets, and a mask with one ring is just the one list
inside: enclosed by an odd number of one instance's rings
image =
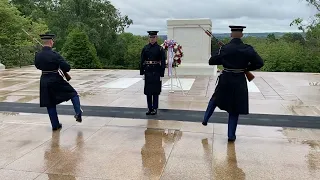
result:
[(101, 68), (96, 49), (90, 43), (88, 35), (80, 29), (74, 29), (70, 32), (62, 49), (62, 55), (70, 62), (73, 68)]

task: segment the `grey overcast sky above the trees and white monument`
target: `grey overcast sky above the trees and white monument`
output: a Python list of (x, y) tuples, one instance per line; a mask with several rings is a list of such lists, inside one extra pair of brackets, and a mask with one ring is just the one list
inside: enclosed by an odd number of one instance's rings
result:
[(315, 9), (305, 0), (110, 0), (133, 20), (127, 29), (137, 35), (148, 30), (167, 34), (167, 19), (210, 18), (214, 33), (228, 33), (229, 25), (247, 26), (245, 32), (292, 32), (293, 19), (308, 19)]

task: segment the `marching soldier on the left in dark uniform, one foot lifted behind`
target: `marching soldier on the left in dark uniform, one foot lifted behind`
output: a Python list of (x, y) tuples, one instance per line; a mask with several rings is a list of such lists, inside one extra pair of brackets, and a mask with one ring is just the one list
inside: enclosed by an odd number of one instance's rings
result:
[(76, 115), (76, 121), (82, 122), (82, 109), (77, 91), (63, 79), (59, 74), (59, 69), (69, 72), (71, 67), (64, 58), (52, 50), (53, 34), (40, 35), (43, 47), (35, 55), (34, 64), (42, 71), (40, 78), (40, 107), (47, 107), (52, 130), (62, 128), (59, 123), (56, 105), (71, 99)]

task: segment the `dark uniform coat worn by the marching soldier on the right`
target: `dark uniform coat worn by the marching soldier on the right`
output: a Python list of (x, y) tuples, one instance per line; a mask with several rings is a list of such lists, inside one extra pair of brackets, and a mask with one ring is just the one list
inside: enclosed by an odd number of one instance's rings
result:
[[(234, 114), (249, 114), (247, 79), (243, 71), (253, 71), (263, 67), (259, 54), (241, 39), (234, 38), (212, 53), (209, 65), (222, 65), (229, 71), (222, 71), (212, 96), (221, 110)], [(231, 70), (233, 69), (233, 70)], [(234, 69), (241, 69), (242, 72)]]

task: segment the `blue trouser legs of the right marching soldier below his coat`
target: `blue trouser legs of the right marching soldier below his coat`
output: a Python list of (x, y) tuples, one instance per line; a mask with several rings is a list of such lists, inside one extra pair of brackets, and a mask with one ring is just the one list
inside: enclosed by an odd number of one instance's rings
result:
[[(216, 107), (217, 105), (214, 103), (213, 99), (211, 98), (209, 101), (207, 110), (204, 114), (203, 122), (208, 123)], [(238, 119), (239, 119), (239, 114), (229, 113), (229, 119), (228, 119), (228, 138), (229, 139), (236, 139)]]

